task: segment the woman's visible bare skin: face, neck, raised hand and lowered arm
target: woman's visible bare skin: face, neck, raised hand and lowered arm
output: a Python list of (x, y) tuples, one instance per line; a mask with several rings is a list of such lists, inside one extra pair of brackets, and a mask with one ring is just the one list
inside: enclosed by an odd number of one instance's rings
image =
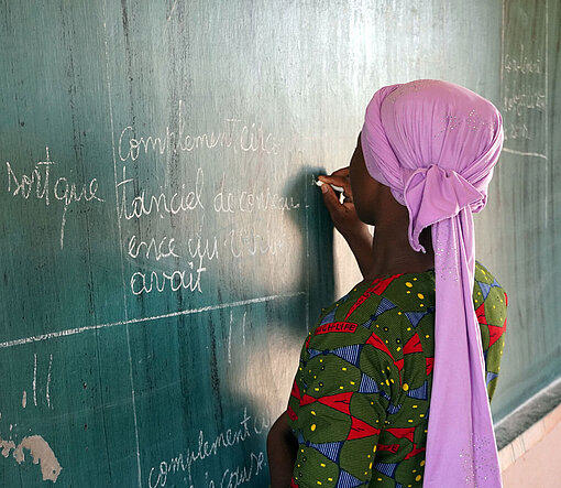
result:
[[(350, 165), (319, 180), (343, 188), (344, 198), (340, 202), (340, 194), (330, 185), (321, 186), (323, 203), (334, 227), (351, 248), (364, 281), (386, 274), (424, 272), (435, 267), (429, 229), (420, 237), (427, 252), (414, 251), (408, 239), (407, 208), (397, 203), (388, 186), (370, 176), (360, 135)], [(375, 227), (374, 237), (367, 225)], [(290, 486), (297, 448), (284, 412), (267, 437), (272, 488)]]

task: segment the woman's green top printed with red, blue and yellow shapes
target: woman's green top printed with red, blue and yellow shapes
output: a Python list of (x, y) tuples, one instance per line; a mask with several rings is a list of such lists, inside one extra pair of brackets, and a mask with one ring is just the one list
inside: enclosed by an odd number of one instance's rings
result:
[[(488, 398), (503, 355), (507, 297), (475, 267)], [(324, 310), (304, 345), (288, 416), (293, 487), (420, 487), (435, 356), (435, 273), (385, 276)]]

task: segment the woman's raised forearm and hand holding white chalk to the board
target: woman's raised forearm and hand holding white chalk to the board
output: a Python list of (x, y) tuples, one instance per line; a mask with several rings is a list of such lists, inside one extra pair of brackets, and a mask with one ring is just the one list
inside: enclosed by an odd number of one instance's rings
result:
[(331, 216), (331, 220), (333, 220), (336, 229), (346, 240), (364, 276), (373, 263), (372, 235), (370, 234), (369, 226), (359, 218), (354, 209), (351, 183), (349, 181), (349, 167), (342, 167), (329, 176), (319, 176), (319, 180), (341, 186), (344, 189), (344, 199), (341, 203), (338, 194), (330, 185), (321, 186), (323, 203)]

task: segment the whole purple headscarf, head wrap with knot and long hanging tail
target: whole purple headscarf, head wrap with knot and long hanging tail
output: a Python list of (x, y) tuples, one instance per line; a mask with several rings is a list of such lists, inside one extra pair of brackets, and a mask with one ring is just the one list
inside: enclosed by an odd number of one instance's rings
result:
[(425, 487), (501, 487), (495, 434), (473, 308), (473, 213), (486, 203), (503, 147), (498, 110), (439, 80), (380, 89), (361, 135), (371, 176), (409, 212), (409, 242), (432, 226), (435, 369)]

